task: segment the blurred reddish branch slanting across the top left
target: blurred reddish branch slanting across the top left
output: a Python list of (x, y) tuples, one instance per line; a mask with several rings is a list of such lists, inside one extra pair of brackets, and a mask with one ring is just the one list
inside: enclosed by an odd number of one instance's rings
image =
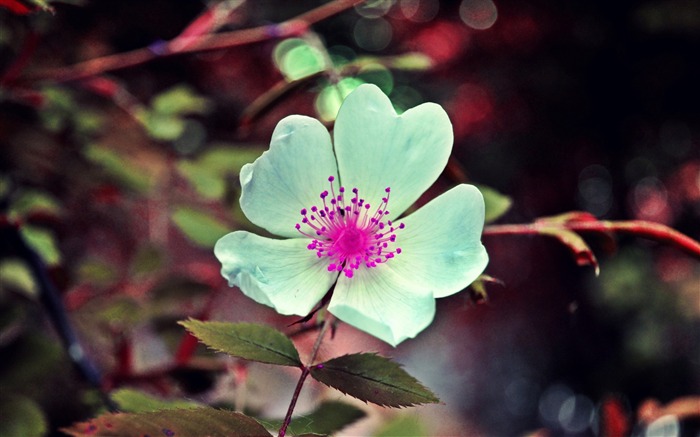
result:
[[(219, 34), (178, 36), (171, 42), (152, 44), (130, 52), (117, 53), (80, 62), (67, 67), (52, 68), (30, 75), (29, 81), (69, 82), (98, 76), (108, 71), (120, 70), (144, 64), (156, 58), (183, 53), (226, 49), (274, 38), (286, 38), (306, 32), (309, 26), (339, 14), (366, 0), (334, 0), (278, 24), (235, 30)], [(177, 44), (172, 44), (177, 42)]]

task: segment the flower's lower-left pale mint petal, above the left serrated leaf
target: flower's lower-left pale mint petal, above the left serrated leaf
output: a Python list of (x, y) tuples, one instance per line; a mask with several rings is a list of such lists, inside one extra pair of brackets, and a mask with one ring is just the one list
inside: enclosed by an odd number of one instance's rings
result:
[(307, 315), (335, 281), (328, 261), (306, 248), (309, 240), (273, 240), (245, 231), (217, 241), (214, 254), (230, 286), (280, 314)]

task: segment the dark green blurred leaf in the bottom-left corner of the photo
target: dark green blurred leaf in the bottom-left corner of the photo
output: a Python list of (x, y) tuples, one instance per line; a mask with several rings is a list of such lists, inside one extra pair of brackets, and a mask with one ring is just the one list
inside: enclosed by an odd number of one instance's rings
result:
[[(8, 396), (4, 393), (3, 396)], [(13, 395), (0, 399), (0, 435), (2, 436), (43, 436), (48, 424), (39, 405), (24, 396)]]

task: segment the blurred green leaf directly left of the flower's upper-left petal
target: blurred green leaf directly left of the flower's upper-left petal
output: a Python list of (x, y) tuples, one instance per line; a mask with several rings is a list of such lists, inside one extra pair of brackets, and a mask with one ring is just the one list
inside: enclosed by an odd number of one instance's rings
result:
[(221, 199), (226, 193), (227, 177), (240, 173), (241, 167), (255, 161), (260, 154), (262, 150), (252, 147), (216, 146), (197, 159), (181, 160), (177, 170), (201, 196)]

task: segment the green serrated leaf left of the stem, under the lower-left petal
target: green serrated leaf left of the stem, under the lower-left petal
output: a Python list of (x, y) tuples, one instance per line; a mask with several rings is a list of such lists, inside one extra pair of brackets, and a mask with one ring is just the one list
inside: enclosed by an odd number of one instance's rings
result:
[(292, 341), (274, 328), (254, 323), (179, 322), (202, 343), (234, 357), (280, 366), (301, 366)]

